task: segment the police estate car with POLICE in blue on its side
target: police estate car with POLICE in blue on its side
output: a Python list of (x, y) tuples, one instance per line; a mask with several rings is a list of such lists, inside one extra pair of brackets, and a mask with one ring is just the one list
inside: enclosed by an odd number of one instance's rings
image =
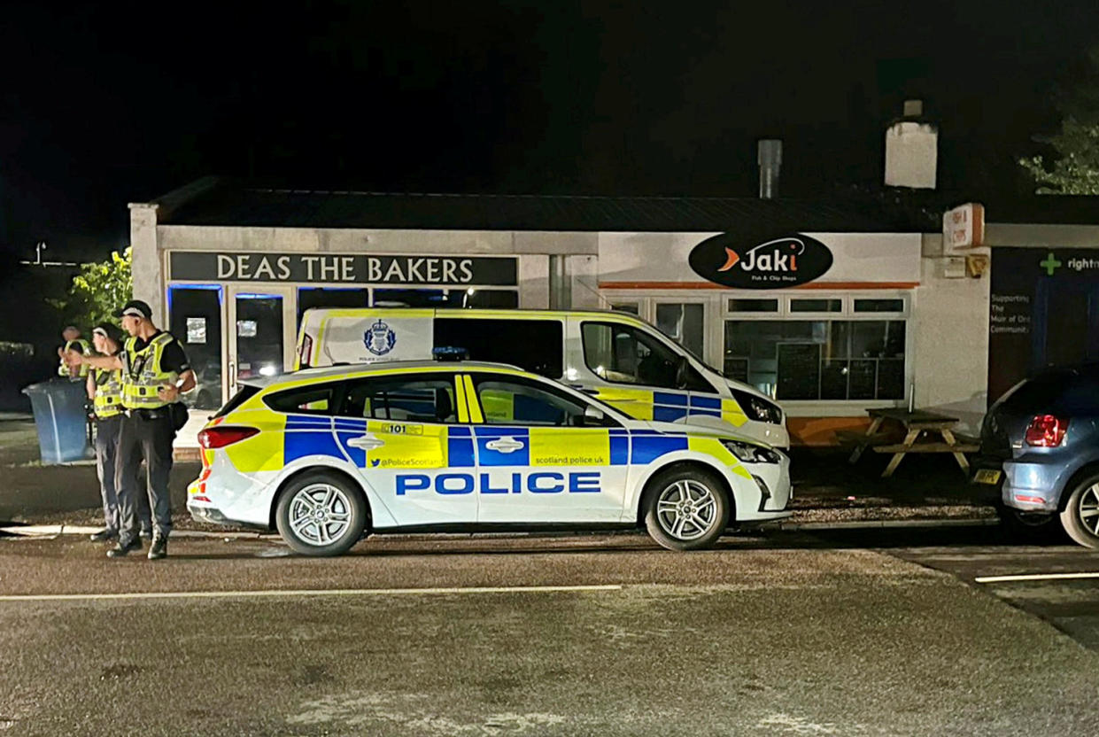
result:
[(199, 433), (199, 520), (308, 556), (368, 534), (644, 526), (674, 550), (787, 517), (789, 460), (712, 427), (633, 419), (515, 367), (330, 366), (244, 386)]

